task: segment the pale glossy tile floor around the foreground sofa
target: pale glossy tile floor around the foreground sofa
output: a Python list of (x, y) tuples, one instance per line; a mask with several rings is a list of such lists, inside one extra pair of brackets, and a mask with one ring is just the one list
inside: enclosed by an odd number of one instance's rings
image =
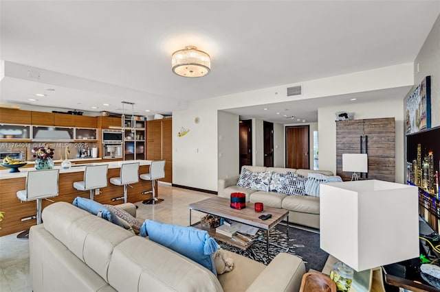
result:
[[(188, 204), (212, 197), (211, 194), (189, 191), (166, 184), (159, 184), (159, 197), (165, 199), (162, 204), (144, 205), (136, 203), (137, 218), (154, 219), (166, 223), (188, 226)], [(192, 218), (199, 218), (203, 213), (192, 212)], [(21, 292), (32, 291), (29, 276), (28, 241), (19, 240), (17, 234), (0, 237), (0, 291)], [(324, 272), (329, 273), (334, 259), (329, 259)]]

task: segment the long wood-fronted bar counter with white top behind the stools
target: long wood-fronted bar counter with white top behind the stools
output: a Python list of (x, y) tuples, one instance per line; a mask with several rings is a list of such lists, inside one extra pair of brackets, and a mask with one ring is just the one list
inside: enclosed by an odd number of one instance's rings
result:
[[(77, 191), (74, 188), (74, 182), (79, 182), (84, 179), (86, 160), (84, 163), (78, 165), (76, 161), (70, 169), (61, 169), (60, 166), (55, 166), (55, 169), (60, 169), (59, 177), (59, 194), (58, 197), (50, 198), (54, 202), (69, 202), (72, 203), (76, 197), (90, 197), (89, 191)], [(140, 162), (139, 174), (148, 173), (150, 169), (151, 160), (126, 160), (126, 161), (112, 161), (112, 162), (92, 162), (91, 165), (109, 165), (107, 173), (107, 187), (100, 188), (101, 193), (94, 196), (96, 202), (101, 204), (121, 204), (122, 200), (112, 202), (113, 197), (120, 197), (124, 195), (123, 186), (115, 186), (110, 183), (110, 178), (115, 178), (120, 175), (120, 167), (124, 163)], [(3, 221), (0, 222), (0, 236), (20, 232), (30, 228), (36, 224), (35, 219), (21, 221), (23, 218), (28, 218), (36, 215), (36, 201), (21, 202), (17, 198), (17, 191), (26, 188), (26, 175), (28, 171), (35, 171), (34, 168), (22, 167), (20, 172), (10, 173), (9, 169), (0, 170), (0, 211), (3, 212)], [(44, 182), (42, 182), (44, 183)], [(151, 199), (152, 195), (141, 195), (143, 191), (150, 191), (152, 189), (151, 182), (139, 180), (136, 184), (131, 184), (133, 188), (127, 188), (128, 202), (135, 203), (144, 199)], [(157, 188), (156, 188), (157, 195)], [(42, 208), (52, 204), (47, 199), (43, 199)]]

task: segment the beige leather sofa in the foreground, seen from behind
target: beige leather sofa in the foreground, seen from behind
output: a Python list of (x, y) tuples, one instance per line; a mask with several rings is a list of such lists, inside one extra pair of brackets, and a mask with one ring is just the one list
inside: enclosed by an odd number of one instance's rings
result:
[(228, 252), (218, 277), (194, 261), (66, 202), (30, 230), (30, 276), (39, 291), (298, 291), (303, 260), (278, 254), (265, 266)]

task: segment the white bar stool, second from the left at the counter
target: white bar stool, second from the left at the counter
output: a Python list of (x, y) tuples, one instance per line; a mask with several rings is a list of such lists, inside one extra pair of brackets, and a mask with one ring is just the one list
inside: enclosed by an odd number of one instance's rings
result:
[(94, 199), (100, 193), (99, 188), (107, 186), (107, 171), (109, 165), (87, 165), (84, 171), (84, 180), (74, 182), (74, 188), (78, 191), (90, 191), (90, 199)]

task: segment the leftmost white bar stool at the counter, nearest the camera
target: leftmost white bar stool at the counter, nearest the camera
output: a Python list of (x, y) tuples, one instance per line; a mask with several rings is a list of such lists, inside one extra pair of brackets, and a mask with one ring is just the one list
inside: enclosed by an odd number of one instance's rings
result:
[[(17, 191), (17, 197), (23, 202), (36, 200), (36, 215), (24, 220), (36, 219), (36, 223), (41, 224), (41, 199), (58, 195), (59, 173), (59, 169), (28, 171), (26, 189)], [(29, 239), (29, 230), (19, 233), (17, 239)]]

